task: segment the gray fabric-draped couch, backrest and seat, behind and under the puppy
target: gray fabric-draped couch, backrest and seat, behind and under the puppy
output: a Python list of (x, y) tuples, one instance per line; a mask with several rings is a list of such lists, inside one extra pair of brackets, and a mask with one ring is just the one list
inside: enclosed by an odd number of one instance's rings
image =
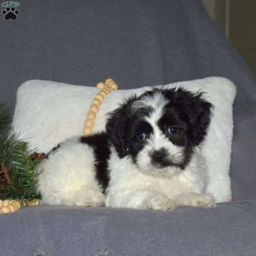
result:
[(0, 255), (256, 255), (256, 78), (201, 2), (19, 3), (17, 20), (0, 17), (0, 102), (12, 113), (17, 87), (28, 79), (95, 86), (111, 77), (121, 89), (231, 79), (233, 201), (174, 212), (26, 207), (0, 215)]

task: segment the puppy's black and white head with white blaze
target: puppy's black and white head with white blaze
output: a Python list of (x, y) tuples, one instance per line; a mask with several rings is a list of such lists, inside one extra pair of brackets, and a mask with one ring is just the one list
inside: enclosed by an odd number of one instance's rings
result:
[(184, 169), (207, 134), (212, 105), (183, 88), (132, 96), (108, 114), (106, 131), (120, 158), (131, 156), (142, 172)]

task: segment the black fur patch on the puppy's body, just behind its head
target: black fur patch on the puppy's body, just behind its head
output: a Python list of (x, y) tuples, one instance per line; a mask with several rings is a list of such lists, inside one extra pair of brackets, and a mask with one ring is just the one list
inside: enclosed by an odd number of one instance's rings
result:
[(93, 148), (95, 156), (94, 166), (96, 171), (96, 179), (103, 189), (103, 193), (108, 187), (110, 180), (108, 170), (108, 160), (110, 158), (110, 143), (108, 135), (104, 132), (93, 134), (91, 136), (81, 137), (81, 143), (86, 143)]

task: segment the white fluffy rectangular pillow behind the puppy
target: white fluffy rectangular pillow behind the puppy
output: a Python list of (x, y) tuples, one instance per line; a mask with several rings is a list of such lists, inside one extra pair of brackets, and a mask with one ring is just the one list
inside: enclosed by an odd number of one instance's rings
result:
[[(217, 202), (231, 201), (229, 166), (235, 85), (225, 78), (208, 77), (165, 85), (165, 88), (171, 87), (184, 87), (192, 92), (203, 90), (206, 92), (204, 97), (214, 105), (208, 135), (202, 145), (210, 175), (207, 192), (212, 193)], [(105, 114), (117, 108), (124, 97), (134, 93), (140, 95), (150, 89), (143, 87), (110, 93), (99, 107), (93, 131), (105, 129)], [(17, 91), (12, 125), (20, 139), (30, 142), (31, 148), (47, 153), (61, 141), (82, 135), (86, 115), (98, 92), (96, 87), (26, 81)]]

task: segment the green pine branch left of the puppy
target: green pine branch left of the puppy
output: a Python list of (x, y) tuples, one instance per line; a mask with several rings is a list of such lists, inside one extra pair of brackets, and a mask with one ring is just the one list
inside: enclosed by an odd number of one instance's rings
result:
[(23, 204), (30, 204), (40, 199), (37, 193), (38, 174), (35, 166), (39, 160), (32, 160), (29, 143), (17, 139), (12, 127), (9, 126), (9, 115), (6, 105), (0, 104), (0, 163), (4, 163), (12, 182), (0, 175), (0, 199), (18, 199)]

